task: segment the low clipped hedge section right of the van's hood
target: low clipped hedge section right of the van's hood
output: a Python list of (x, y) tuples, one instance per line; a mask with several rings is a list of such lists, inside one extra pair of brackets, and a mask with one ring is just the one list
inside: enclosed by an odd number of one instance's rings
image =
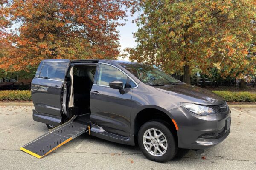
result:
[(256, 102), (256, 93), (252, 92), (232, 92), (232, 91), (212, 91), (223, 97), (227, 102)]

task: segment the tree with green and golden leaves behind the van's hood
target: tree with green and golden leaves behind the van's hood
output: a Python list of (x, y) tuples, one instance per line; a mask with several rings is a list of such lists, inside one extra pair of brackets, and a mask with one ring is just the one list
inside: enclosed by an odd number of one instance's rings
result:
[(131, 60), (184, 74), (187, 83), (195, 68), (205, 75), (216, 68), (224, 70), (221, 77), (231, 70), (244, 77), (251, 71), (247, 54), (256, 31), (255, 5), (255, 0), (140, 0), (137, 46), (126, 51)]

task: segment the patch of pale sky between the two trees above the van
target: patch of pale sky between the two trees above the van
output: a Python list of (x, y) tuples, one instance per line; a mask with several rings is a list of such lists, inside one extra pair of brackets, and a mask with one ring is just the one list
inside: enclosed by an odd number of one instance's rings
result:
[[(130, 14), (128, 14), (130, 15)], [(127, 48), (127, 47), (135, 47), (137, 45), (137, 43), (135, 42), (135, 38), (133, 37), (133, 33), (135, 33), (138, 30), (138, 27), (136, 26), (136, 23), (132, 23), (132, 20), (136, 19), (137, 14), (134, 14), (134, 16), (129, 16), (126, 19), (128, 19), (128, 21), (124, 21), (124, 20), (119, 20), (122, 23), (125, 23), (125, 26), (119, 26), (117, 27), (117, 30), (119, 30), (119, 43), (121, 45), (120, 50), (121, 50), (121, 54), (122, 51)], [(126, 60), (129, 61), (128, 58), (121, 58), (119, 57), (119, 60)]]

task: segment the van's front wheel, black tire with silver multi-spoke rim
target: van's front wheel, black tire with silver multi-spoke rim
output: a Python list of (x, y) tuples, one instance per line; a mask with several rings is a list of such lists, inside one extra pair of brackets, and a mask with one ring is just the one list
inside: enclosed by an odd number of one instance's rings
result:
[[(177, 141), (168, 127), (169, 125), (161, 120), (148, 121), (140, 127), (138, 144), (143, 155), (151, 161), (166, 162), (173, 159), (177, 154)], [(157, 139), (155, 139), (154, 132), (157, 133)], [(163, 135), (160, 135), (161, 133)], [(144, 135), (146, 137), (143, 137)], [(164, 139), (166, 139), (166, 142), (164, 142)], [(155, 149), (157, 150), (156, 153), (153, 152)], [(160, 153), (160, 151), (162, 153)]]

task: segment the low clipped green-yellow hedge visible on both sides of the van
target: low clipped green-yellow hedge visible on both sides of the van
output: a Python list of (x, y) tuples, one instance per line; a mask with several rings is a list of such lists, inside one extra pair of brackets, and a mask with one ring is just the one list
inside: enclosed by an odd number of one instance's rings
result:
[[(223, 97), (227, 102), (256, 102), (256, 93), (212, 91)], [(0, 91), (0, 100), (32, 100), (31, 92), (28, 90), (6, 90)]]

